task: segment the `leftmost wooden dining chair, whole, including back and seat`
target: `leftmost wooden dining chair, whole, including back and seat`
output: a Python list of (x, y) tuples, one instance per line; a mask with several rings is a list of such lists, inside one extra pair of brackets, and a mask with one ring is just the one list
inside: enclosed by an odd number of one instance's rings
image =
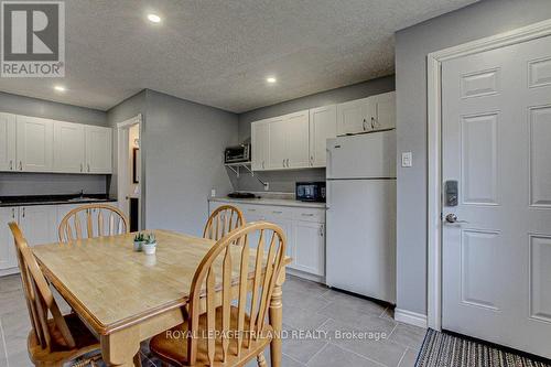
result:
[[(15, 241), (21, 280), (31, 319), (29, 356), (35, 366), (62, 366), (95, 350), (99, 342), (74, 313), (63, 315), (21, 229), (9, 224)], [(48, 319), (50, 314), (52, 319)], [(96, 366), (99, 356), (85, 358), (78, 366)], [(73, 365), (75, 366), (75, 365)]]

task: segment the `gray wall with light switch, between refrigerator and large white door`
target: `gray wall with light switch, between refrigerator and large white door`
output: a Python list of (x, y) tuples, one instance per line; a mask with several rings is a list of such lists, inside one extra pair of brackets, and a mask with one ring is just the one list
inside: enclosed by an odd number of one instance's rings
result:
[(426, 54), (551, 18), (549, 0), (487, 0), (396, 34), (399, 309), (426, 313)]

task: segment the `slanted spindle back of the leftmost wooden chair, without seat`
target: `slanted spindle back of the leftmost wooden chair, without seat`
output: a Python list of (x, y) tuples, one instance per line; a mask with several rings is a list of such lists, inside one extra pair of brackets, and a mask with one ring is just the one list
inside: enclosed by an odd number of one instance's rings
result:
[(19, 226), (12, 222), (9, 224), (15, 241), (15, 251), (18, 256), (19, 269), (21, 270), (21, 280), (26, 299), (26, 307), (31, 317), (31, 327), (37, 344), (42, 348), (57, 346), (54, 343), (50, 328), (47, 326), (48, 312), (52, 314), (55, 327), (61, 333), (67, 348), (75, 347), (75, 339), (63, 317), (57, 303), (52, 294), (52, 290), (42, 273), (42, 270), (34, 258), (29, 245)]

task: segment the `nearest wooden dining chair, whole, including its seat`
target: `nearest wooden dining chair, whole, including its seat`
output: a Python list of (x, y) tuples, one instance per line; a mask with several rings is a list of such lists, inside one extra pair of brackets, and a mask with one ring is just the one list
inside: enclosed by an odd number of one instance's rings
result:
[[(249, 238), (258, 238), (256, 248)], [(256, 357), (266, 367), (263, 350), (279, 337), (267, 312), (285, 245), (283, 230), (267, 222), (219, 239), (195, 271), (186, 321), (153, 336), (152, 354), (163, 366), (245, 366)]]

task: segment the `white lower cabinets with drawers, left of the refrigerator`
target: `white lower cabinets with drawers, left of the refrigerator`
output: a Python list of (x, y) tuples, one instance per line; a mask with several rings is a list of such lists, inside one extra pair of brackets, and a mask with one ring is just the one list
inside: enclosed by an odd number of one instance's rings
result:
[[(226, 204), (241, 209), (247, 223), (266, 220), (283, 229), (285, 252), (292, 258), (289, 268), (325, 277), (325, 208), (209, 202), (209, 213)], [(257, 237), (249, 238), (251, 247), (256, 247), (257, 241)]]

